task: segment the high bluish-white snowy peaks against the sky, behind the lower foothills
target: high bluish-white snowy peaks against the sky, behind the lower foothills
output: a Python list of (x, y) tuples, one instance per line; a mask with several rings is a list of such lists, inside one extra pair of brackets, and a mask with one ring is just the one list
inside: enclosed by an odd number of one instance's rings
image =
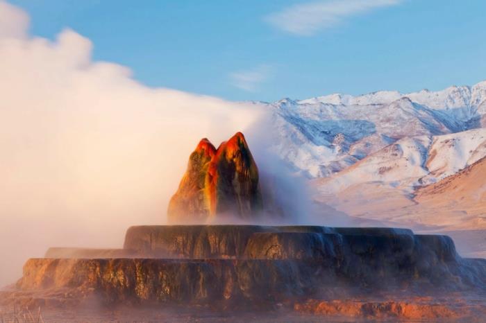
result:
[(267, 107), (274, 152), (308, 177), (328, 177), (407, 137), (424, 136), (408, 140), (427, 146), (419, 141), (485, 126), (486, 81), (409, 94), (285, 98)]

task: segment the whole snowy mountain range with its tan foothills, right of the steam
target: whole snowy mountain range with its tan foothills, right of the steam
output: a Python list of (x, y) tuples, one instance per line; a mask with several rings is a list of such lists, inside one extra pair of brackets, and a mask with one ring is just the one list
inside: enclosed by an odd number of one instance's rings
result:
[(462, 254), (486, 256), (486, 81), (255, 104), (271, 112), (271, 150), (310, 178), (316, 205), (353, 225), (446, 232)]

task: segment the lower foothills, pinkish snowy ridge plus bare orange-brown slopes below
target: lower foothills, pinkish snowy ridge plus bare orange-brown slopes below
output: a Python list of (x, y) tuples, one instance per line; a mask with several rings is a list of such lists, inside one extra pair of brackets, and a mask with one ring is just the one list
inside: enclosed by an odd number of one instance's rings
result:
[(480, 180), (485, 147), (484, 128), (404, 138), (340, 173), (313, 180), (315, 199), (359, 218), (362, 225), (374, 221), (446, 232), (457, 239), (462, 254), (484, 255), (486, 232), (458, 230), (486, 229)]

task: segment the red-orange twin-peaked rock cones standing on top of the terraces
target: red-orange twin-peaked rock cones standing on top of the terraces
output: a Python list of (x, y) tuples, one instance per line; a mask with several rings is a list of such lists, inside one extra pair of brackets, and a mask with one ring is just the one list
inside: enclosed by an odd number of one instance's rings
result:
[(241, 132), (215, 146), (202, 139), (171, 198), (169, 222), (206, 222), (216, 216), (251, 219), (262, 211), (258, 168)]

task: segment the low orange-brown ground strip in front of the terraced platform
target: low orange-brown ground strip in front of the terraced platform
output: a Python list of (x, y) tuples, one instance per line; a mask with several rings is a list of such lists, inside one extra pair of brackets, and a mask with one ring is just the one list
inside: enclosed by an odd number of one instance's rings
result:
[[(457, 298), (456, 298), (457, 297)], [(484, 322), (486, 298), (449, 295), (410, 299), (308, 299), (268, 311), (215, 311), (201, 306), (106, 308), (0, 307), (0, 322)]]

